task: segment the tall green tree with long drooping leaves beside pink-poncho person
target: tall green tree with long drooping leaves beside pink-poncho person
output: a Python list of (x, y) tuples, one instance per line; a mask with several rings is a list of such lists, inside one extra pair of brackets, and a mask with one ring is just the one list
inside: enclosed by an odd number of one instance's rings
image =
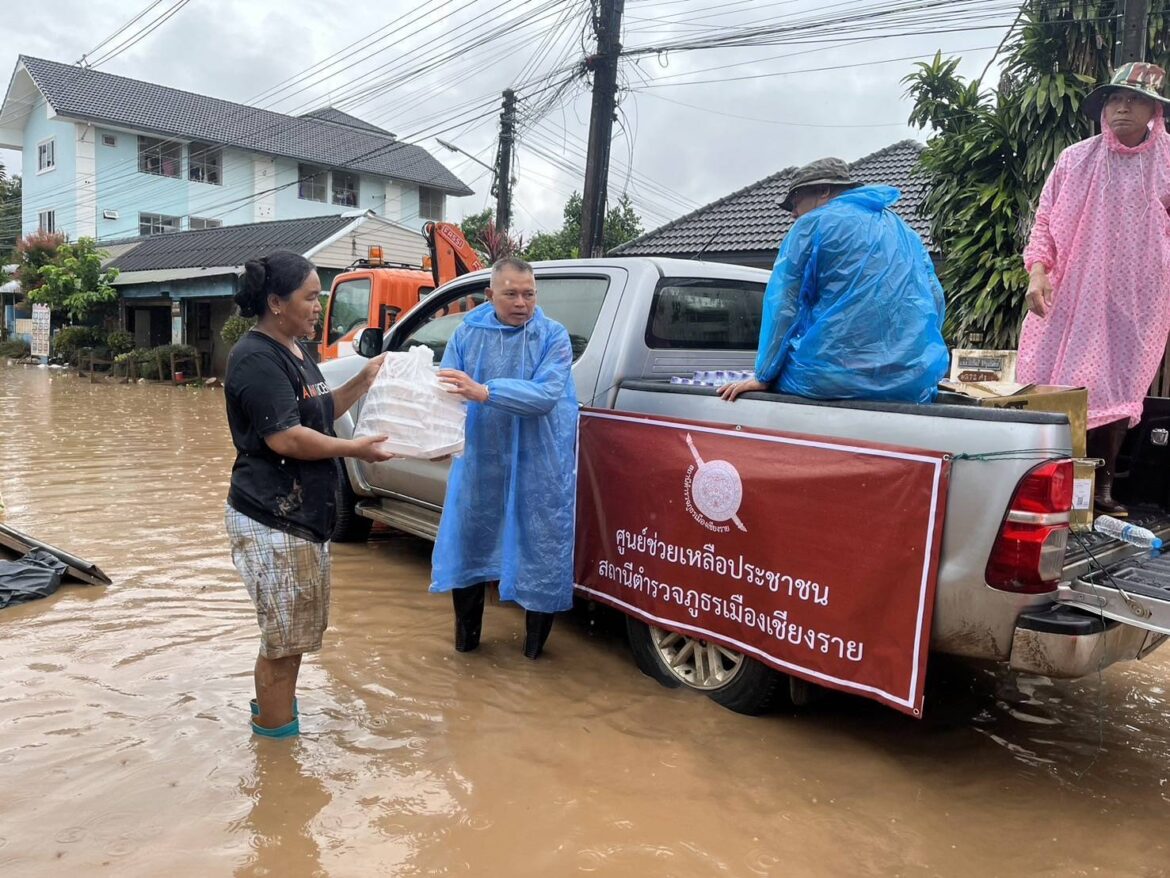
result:
[[(1112, 66), (1116, 0), (1027, 0), (996, 89), (936, 55), (906, 77), (910, 123), (930, 128), (923, 213), (943, 256), (952, 343), (1014, 348), (1027, 275), (1021, 253), (1061, 151), (1093, 131), (1081, 104)], [(1170, 60), (1170, 8), (1152, 0), (1147, 57)]]

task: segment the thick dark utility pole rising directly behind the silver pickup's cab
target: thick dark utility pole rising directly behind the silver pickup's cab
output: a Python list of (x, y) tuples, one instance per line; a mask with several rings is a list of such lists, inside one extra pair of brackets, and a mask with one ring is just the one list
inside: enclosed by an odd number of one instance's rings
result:
[(625, 0), (600, 0), (593, 28), (597, 54), (585, 60), (593, 71), (593, 110), (589, 121), (589, 153), (585, 159), (585, 194), (581, 205), (580, 255), (603, 255), (605, 242), (605, 196), (610, 174), (610, 144), (618, 97), (618, 59), (621, 55), (621, 12)]

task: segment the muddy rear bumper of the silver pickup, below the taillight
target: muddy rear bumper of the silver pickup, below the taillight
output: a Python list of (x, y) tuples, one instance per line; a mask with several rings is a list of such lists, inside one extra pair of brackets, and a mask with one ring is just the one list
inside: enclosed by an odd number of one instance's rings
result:
[(1072, 679), (1115, 661), (1144, 658), (1165, 639), (1165, 635), (1054, 605), (1017, 619), (1010, 664), (1013, 671)]

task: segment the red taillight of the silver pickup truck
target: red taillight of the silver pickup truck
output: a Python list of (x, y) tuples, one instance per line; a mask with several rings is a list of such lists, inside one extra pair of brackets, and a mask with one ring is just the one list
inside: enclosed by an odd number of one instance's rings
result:
[(1025, 595), (1055, 589), (1072, 508), (1073, 461), (1041, 464), (1024, 476), (987, 560), (987, 584)]

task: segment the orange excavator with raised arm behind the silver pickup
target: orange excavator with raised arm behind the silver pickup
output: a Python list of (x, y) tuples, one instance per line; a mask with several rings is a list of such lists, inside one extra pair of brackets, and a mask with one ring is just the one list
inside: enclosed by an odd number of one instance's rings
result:
[(337, 275), (325, 306), (322, 361), (351, 356), (353, 339), (366, 327), (390, 329), (435, 287), (483, 268), (454, 222), (427, 222), (422, 235), (431, 255), (421, 268), (387, 265), (381, 247), (374, 246), (366, 259)]

